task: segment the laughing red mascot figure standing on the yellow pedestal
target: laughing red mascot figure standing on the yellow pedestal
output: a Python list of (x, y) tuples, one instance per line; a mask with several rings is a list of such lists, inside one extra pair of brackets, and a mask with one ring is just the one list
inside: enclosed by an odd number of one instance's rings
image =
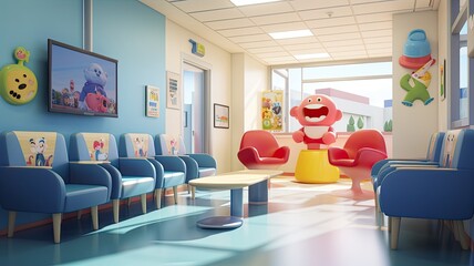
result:
[(329, 96), (322, 94), (308, 96), (299, 106), (290, 110), (290, 115), (302, 125), (292, 134), (295, 142), (303, 142), (308, 150), (317, 150), (320, 144), (329, 145), (336, 142), (336, 133), (331, 125), (341, 120), (342, 112)]

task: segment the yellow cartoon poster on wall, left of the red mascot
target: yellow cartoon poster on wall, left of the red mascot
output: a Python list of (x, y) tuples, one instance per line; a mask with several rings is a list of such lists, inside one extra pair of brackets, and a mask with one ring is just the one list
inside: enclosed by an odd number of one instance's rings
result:
[(261, 126), (268, 131), (282, 131), (284, 91), (266, 91), (261, 95)]

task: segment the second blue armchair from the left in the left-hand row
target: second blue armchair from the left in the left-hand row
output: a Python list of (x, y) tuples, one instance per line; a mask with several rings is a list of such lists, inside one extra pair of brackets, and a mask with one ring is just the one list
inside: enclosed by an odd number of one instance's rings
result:
[(146, 193), (156, 183), (155, 167), (146, 158), (118, 157), (114, 135), (109, 133), (75, 133), (71, 135), (71, 161), (96, 163), (112, 177), (114, 223), (118, 223), (120, 200), (141, 196), (142, 212), (146, 213)]

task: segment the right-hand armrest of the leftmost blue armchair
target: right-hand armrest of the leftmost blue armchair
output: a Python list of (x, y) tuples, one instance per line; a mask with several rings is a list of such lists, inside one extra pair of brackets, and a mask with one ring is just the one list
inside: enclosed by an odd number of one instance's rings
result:
[(97, 164), (80, 164), (70, 162), (70, 182), (73, 184), (101, 185), (106, 186), (109, 197), (112, 192), (111, 174)]

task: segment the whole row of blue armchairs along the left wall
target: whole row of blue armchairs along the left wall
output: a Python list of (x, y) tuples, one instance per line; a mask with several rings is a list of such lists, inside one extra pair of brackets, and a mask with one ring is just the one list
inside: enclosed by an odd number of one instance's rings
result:
[(141, 196), (146, 213), (147, 193), (154, 193), (159, 208), (164, 190), (173, 187), (176, 203), (178, 185), (215, 174), (209, 155), (185, 155), (179, 139), (155, 139), (156, 145), (150, 134), (127, 133), (117, 145), (110, 133), (76, 133), (68, 150), (56, 132), (1, 133), (0, 205), (9, 212), (8, 236), (13, 236), (17, 212), (45, 213), (52, 214), (54, 243), (60, 243), (64, 213), (90, 207), (97, 229), (101, 204), (112, 202), (118, 223), (121, 200)]

